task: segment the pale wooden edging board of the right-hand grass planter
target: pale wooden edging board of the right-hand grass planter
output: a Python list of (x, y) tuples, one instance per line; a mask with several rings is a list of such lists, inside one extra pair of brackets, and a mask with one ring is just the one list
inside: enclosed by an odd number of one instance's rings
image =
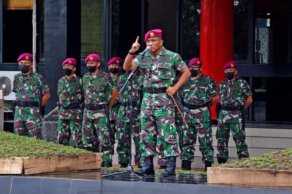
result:
[(292, 171), (210, 167), (207, 183), (292, 188)]

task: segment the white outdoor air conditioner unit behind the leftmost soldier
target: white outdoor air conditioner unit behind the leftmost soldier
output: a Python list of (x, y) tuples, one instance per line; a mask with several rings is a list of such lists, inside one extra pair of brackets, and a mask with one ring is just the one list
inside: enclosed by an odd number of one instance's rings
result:
[(0, 71), (0, 90), (3, 90), (4, 100), (15, 100), (15, 93), (12, 92), (13, 77), (17, 71)]

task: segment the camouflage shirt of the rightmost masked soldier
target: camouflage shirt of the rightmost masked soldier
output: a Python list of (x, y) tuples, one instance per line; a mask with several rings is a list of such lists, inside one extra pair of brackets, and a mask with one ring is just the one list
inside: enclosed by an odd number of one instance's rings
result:
[[(243, 106), (246, 98), (252, 95), (249, 84), (237, 76), (233, 82), (228, 82), (227, 79), (222, 81), (219, 93), (221, 106)], [(221, 110), (218, 119), (223, 123), (241, 123), (242, 114), (240, 110)]]

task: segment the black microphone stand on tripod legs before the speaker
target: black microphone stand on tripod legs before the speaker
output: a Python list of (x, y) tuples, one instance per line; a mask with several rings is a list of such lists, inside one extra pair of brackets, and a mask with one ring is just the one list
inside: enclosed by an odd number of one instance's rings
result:
[[(141, 60), (135, 65), (135, 67), (132, 69), (130, 75), (128, 76), (125, 84), (123, 85), (123, 87), (120, 89), (119, 95), (122, 93), (124, 87), (127, 85), (127, 83), (130, 81), (130, 79), (132, 78), (132, 76), (134, 75), (134, 73), (137, 71), (137, 69), (139, 68), (139, 65), (141, 63), (141, 61), (144, 59), (144, 55), (141, 55)], [(102, 178), (107, 177), (107, 176), (114, 176), (114, 175), (120, 175), (123, 173), (128, 173), (128, 174), (133, 174), (136, 177), (138, 177), (140, 180), (142, 180), (143, 178), (141, 176), (138, 176), (135, 172), (133, 167), (131, 166), (131, 162), (132, 162), (132, 112), (133, 112), (133, 107), (132, 107), (132, 99), (133, 99), (133, 95), (132, 95), (132, 89), (133, 89), (133, 83), (131, 85), (131, 100), (130, 100), (130, 119), (129, 119), (129, 141), (128, 141), (128, 146), (129, 146), (129, 164), (127, 166), (127, 169), (125, 171), (122, 172), (116, 172), (116, 173), (112, 173), (112, 174), (108, 174), (108, 175), (103, 175)], [(127, 135), (125, 134), (126, 138)]]

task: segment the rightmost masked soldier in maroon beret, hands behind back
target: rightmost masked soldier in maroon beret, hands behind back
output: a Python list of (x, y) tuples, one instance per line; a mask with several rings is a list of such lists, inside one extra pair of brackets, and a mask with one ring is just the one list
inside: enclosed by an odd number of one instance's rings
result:
[(249, 152), (245, 143), (244, 109), (252, 103), (252, 92), (249, 84), (236, 76), (237, 63), (231, 61), (224, 65), (226, 79), (220, 82), (220, 113), (216, 132), (218, 163), (228, 160), (228, 141), (230, 130), (235, 141), (239, 159), (248, 158)]

